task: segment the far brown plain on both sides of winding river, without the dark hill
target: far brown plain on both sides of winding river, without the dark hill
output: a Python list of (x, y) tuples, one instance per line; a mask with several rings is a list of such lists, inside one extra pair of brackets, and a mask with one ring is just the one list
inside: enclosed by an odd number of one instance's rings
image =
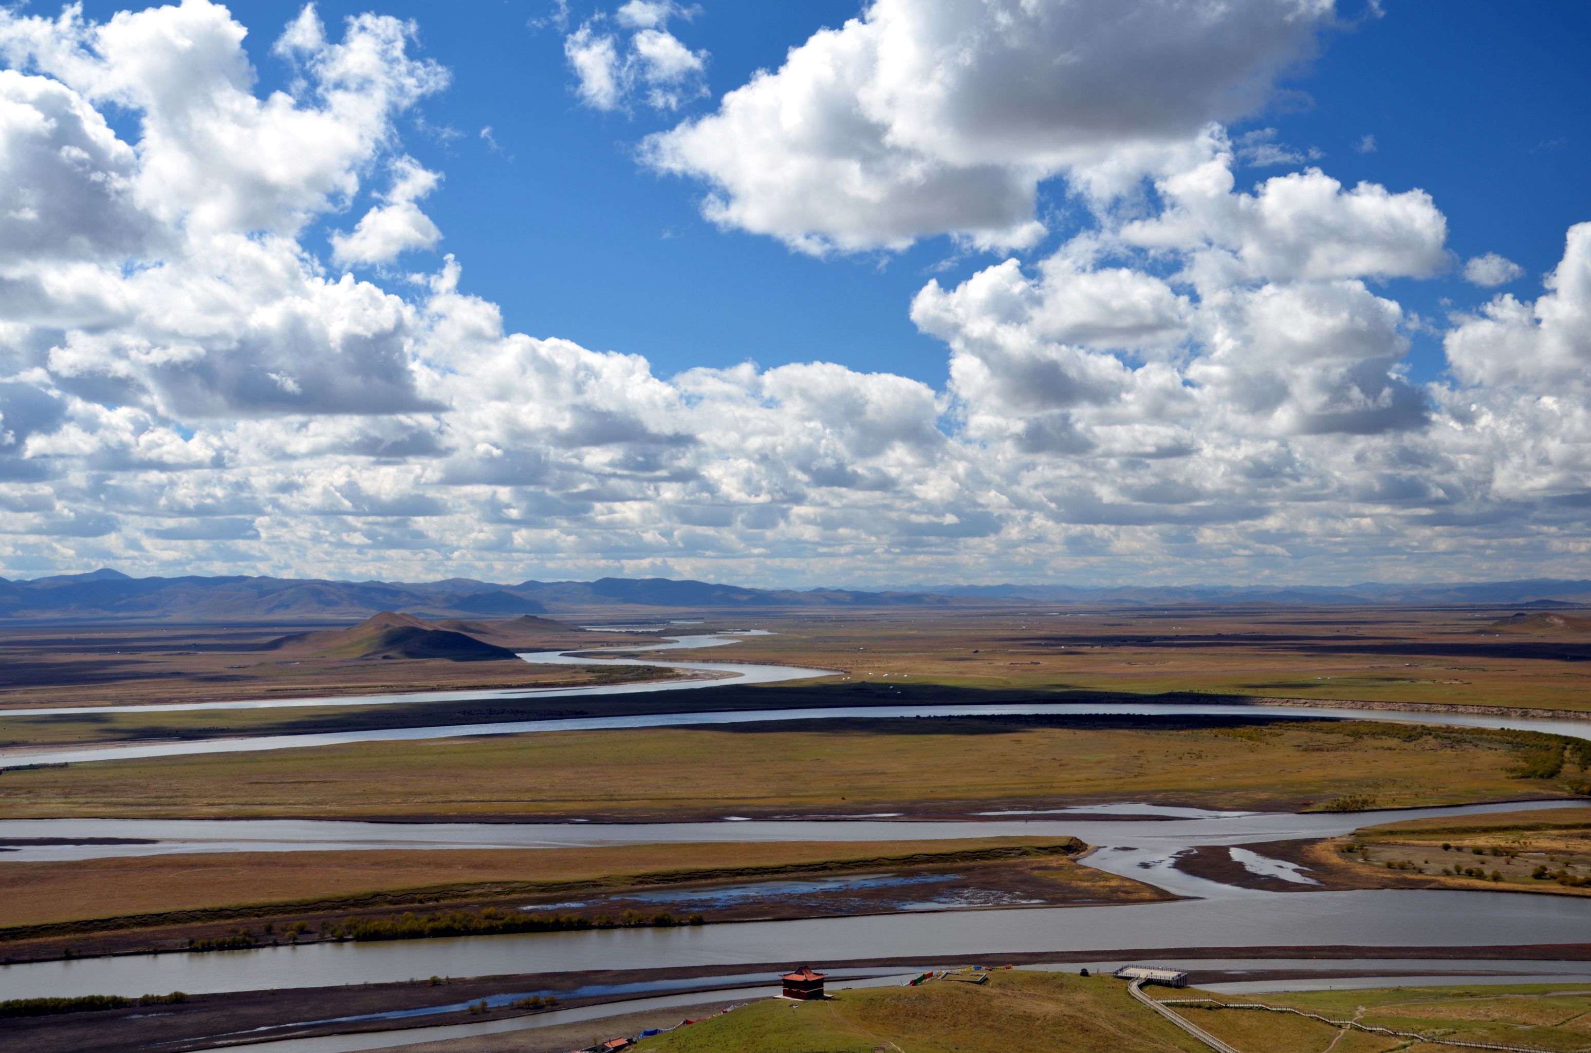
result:
[[(665, 608), (590, 612), (603, 622), (643, 616), (660, 628), (668, 617), (687, 614), (703, 617)], [(1591, 633), (1577, 628), (1583, 620), (1515, 625), (1508, 614), (1508, 608), (1042, 604), (738, 611), (706, 612), (689, 631), (765, 628), (775, 635), (676, 655), (810, 665), (838, 670), (850, 682), (888, 679), (978, 692), (1206, 692), (1591, 711)], [(348, 662), (256, 651), (294, 628), (11, 627), (0, 633), (0, 706), (372, 694), (571, 676), (514, 662)], [(613, 643), (641, 641), (573, 628), (543, 641), (547, 647)]]

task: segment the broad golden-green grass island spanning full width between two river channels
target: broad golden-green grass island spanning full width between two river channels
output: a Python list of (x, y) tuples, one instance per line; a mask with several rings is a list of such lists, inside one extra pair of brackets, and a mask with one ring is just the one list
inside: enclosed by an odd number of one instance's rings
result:
[(0, 813), (681, 819), (966, 814), (1068, 800), (1295, 810), (1572, 795), (1567, 783), (1585, 779), (1572, 760), (1553, 778), (1515, 778), (1535, 752), (1496, 732), (1376, 722), (1142, 730), (904, 719), (633, 729), (8, 771)]

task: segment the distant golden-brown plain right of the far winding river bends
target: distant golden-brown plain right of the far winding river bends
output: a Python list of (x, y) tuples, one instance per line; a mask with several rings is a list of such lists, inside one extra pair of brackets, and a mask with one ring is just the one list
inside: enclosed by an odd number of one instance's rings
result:
[(1591, 638), (1499, 633), (1491, 628), (1497, 616), (1398, 608), (899, 611), (770, 619), (765, 627), (778, 635), (730, 651), (741, 662), (838, 668), (853, 682), (905, 678), (908, 690), (918, 682), (1591, 711), (1583, 652)]

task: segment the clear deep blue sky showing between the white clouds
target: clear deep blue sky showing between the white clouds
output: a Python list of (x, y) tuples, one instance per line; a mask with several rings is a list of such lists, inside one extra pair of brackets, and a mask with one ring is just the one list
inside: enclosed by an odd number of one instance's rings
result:
[[(123, 6), (84, 10), (110, 17)], [(229, 6), (258, 48), (302, 5)], [(614, 6), (576, 3), (568, 21)], [(445, 173), (428, 208), (445, 234), (441, 250), (465, 264), (461, 288), (500, 304), (509, 328), (646, 355), (663, 375), (748, 358), (762, 366), (834, 359), (943, 385), (943, 344), (912, 324), (910, 299), (929, 277), (964, 278), (1004, 253), (964, 253), (936, 237), (905, 253), (813, 259), (765, 237), (716, 229), (697, 212), (700, 185), (636, 164), (646, 134), (710, 111), (815, 30), (859, 13), (856, 3), (778, 0), (700, 8), (675, 32), (711, 52), (711, 97), (659, 115), (644, 105), (628, 113), (579, 105), (563, 33), (546, 22), (555, 5), (318, 5), (331, 25), (371, 10), (414, 19), (420, 54), (452, 70), (450, 87), (414, 115), (423, 124), (404, 122), (404, 146)], [(1346, 14), (1363, 13), (1354, 5)], [(1309, 164), (1349, 185), (1430, 191), (1449, 218), (1456, 253), (1500, 253), (1524, 267), (1519, 288), (1531, 289), (1562, 255), (1569, 224), (1591, 216), (1591, 110), (1577, 102), (1588, 87), (1588, 32), (1591, 8), (1581, 3), (1502, 13), (1478, 2), (1389, 0), (1379, 17), (1324, 35), (1321, 56), (1284, 81), (1301, 97), (1233, 130), (1276, 127), (1282, 142), (1324, 151)], [(263, 91), (291, 78), (269, 56), (258, 56), (256, 68)], [(480, 138), (484, 127), (501, 151)], [(439, 142), (423, 129), (444, 135)], [(1375, 137), (1373, 153), (1356, 150), (1365, 135)], [(1061, 180), (1045, 191), (1048, 210), (1076, 212)], [(1058, 235), (1023, 258), (1041, 258)], [(1437, 317), (1443, 297), (1459, 305), (1481, 299), (1453, 275), (1397, 282), (1394, 293)], [(1435, 377), (1438, 344), (1418, 340), (1411, 364), (1416, 379)]]

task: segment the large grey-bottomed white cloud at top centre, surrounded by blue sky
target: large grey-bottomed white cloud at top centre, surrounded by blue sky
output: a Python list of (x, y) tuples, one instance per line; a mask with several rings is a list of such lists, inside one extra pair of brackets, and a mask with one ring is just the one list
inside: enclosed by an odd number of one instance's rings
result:
[(873, 0), (710, 116), (648, 140), (708, 218), (805, 251), (1042, 235), (1037, 183), (1115, 192), (1262, 105), (1332, 0)]

